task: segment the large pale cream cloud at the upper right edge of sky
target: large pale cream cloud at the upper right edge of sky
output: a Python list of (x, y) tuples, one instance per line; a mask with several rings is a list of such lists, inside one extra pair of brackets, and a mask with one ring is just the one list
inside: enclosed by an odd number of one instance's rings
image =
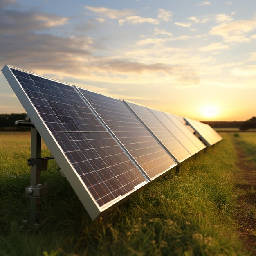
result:
[(256, 29), (256, 20), (238, 20), (221, 23), (211, 29), (209, 34), (222, 36), (224, 42), (249, 42), (247, 33)]

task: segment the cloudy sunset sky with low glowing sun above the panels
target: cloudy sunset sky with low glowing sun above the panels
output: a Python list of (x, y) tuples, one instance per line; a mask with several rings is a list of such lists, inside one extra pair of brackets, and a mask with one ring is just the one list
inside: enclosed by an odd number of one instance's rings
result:
[[(5, 64), (200, 121), (256, 115), (255, 0), (0, 0)], [(0, 113), (25, 112), (0, 73)]]

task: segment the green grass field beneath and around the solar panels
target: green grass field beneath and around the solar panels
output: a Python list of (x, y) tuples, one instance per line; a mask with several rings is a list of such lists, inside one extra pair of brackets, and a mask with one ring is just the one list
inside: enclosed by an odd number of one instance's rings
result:
[(111, 211), (108, 224), (90, 220), (50, 161), (49, 172), (42, 172), (50, 191), (41, 222), (30, 225), (24, 197), (30, 134), (0, 133), (0, 255), (250, 255), (236, 231), (234, 140), (256, 164), (256, 134), (221, 135), (219, 144), (182, 164), (179, 175), (171, 171)]

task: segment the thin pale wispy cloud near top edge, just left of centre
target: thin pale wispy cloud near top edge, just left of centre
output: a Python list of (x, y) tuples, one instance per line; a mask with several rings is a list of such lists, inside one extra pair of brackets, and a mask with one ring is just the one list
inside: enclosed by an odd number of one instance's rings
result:
[(115, 9), (109, 9), (105, 7), (93, 7), (93, 6), (85, 6), (85, 9), (114, 20), (118, 20), (125, 16), (131, 16), (135, 13), (131, 9), (115, 10)]

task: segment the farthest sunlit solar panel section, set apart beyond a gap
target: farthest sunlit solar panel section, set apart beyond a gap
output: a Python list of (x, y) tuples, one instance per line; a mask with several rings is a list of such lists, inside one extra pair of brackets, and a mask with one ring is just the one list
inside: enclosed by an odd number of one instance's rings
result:
[(218, 133), (213, 130), (213, 128), (211, 128), (211, 126), (209, 126), (208, 124), (201, 123), (188, 117), (185, 117), (184, 119), (200, 136), (202, 141), (207, 144), (207, 146), (211, 146), (222, 140), (222, 137), (220, 137), (220, 135), (218, 135)]

